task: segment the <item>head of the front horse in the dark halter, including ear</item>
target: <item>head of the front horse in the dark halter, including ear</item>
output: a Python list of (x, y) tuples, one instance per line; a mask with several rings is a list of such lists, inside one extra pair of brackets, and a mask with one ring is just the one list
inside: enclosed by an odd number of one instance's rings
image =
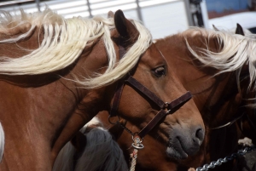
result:
[[(132, 43), (143, 35), (140, 35), (131, 21), (126, 20), (119, 11), (114, 15), (114, 20), (116, 31), (119, 33), (119, 37), (114, 38), (119, 42), (119, 54), (122, 54), (120, 47), (122, 50), (125, 48), (125, 51), (128, 49), (129, 53), (129, 42)], [(133, 80), (131, 75), (140, 83)], [(204, 138), (201, 118), (194, 114), (197, 111), (192, 100), (187, 102), (187, 99), (178, 99), (182, 100), (182, 103), (177, 103), (177, 97), (186, 91), (154, 43), (150, 43), (148, 50), (140, 57), (139, 63), (125, 82), (125, 85), (119, 86), (123, 87), (119, 107), (115, 107), (113, 100), (114, 106), (110, 114), (115, 115), (116, 112), (131, 121), (137, 128), (135, 132), (138, 132), (141, 138), (148, 133), (166, 144), (166, 151), (172, 157), (185, 158), (188, 154), (198, 151)], [(177, 104), (167, 103), (172, 100)], [(165, 114), (164, 104), (170, 107), (173, 105), (172, 109), (166, 107), (170, 114)], [(149, 131), (150, 129), (152, 131)]]

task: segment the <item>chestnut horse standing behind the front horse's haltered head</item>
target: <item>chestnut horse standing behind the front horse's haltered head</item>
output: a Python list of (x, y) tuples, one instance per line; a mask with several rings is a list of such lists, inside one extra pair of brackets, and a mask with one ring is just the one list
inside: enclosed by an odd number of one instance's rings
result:
[[(230, 44), (232, 42), (236, 46)], [(255, 144), (256, 122), (253, 123), (252, 106), (248, 106), (253, 102), (248, 98), (254, 98), (255, 95), (253, 89), (248, 89), (252, 79), (249, 77), (247, 64), (240, 63), (237, 68), (230, 66), (232, 70), (223, 71), (219, 67), (224, 66), (226, 61), (217, 63), (218, 67), (215, 69), (215, 59), (210, 62), (207, 60), (211, 57), (207, 56), (208, 54), (222, 54), (219, 59), (230, 56), (230, 60), (236, 59), (240, 62), (245, 58), (241, 53), (247, 52), (246, 44), (253, 45), (253, 40), (250, 37), (232, 35), (225, 31), (190, 29), (157, 40), (155, 44), (164, 54), (168, 65), (175, 71), (183, 86), (193, 93), (195, 104), (201, 111), (208, 128), (207, 138), (196, 155), (181, 161), (169, 154), (166, 155), (166, 146), (148, 134), (143, 140), (145, 148), (138, 151), (137, 170), (188, 170), (190, 167), (197, 168), (220, 157), (229, 156), (237, 151), (237, 141), (241, 132), (234, 123), (239, 120), (241, 120), (239, 126), (242, 133), (249, 135)], [(233, 46), (235, 49), (230, 48)], [(252, 55), (248, 54), (249, 57)], [(123, 149), (126, 160), (129, 161), (132, 151), (132, 140), (127, 138), (129, 133), (119, 125), (113, 127), (109, 125), (105, 116), (103, 113), (99, 115), (105, 128), (109, 128), (110, 133)], [(121, 119), (120, 123), (131, 131), (134, 128), (134, 125), (125, 119)], [(233, 168), (236, 168), (233, 167), (233, 162), (227, 162), (215, 169), (232, 170)]]

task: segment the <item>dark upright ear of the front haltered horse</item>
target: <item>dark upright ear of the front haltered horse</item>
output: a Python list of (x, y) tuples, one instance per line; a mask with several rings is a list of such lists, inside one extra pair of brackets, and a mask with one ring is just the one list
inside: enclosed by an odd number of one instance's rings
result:
[(119, 32), (119, 35), (122, 38), (125, 38), (126, 41), (135, 41), (135, 39), (137, 39), (138, 31), (136, 27), (131, 23), (130, 20), (125, 18), (122, 10), (115, 12), (114, 24), (116, 30)]

